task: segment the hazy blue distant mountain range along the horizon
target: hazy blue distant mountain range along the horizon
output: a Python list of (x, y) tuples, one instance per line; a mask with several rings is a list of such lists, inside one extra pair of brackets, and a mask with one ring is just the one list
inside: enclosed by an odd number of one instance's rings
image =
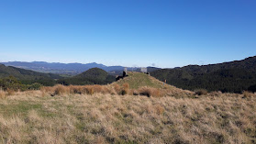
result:
[[(123, 66), (106, 66), (99, 63), (59, 63), (59, 62), (45, 62), (45, 61), (33, 61), (33, 62), (24, 62), (24, 61), (8, 61), (1, 62), (6, 66), (14, 66), (17, 68), (32, 70), (36, 72), (48, 72), (48, 73), (58, 73), (58, 74), (69, 74), (76, 75), (82, 72), (85, 72), (92, 68), (99, 68), (106, 72), (112, 74), (119, 74), (123, 72)], [(149, 67), (149, 71), (158, 70), (159, 68)], [(128, 71), (138, 72), (138, 68), (130, 68), (128, 67)]]

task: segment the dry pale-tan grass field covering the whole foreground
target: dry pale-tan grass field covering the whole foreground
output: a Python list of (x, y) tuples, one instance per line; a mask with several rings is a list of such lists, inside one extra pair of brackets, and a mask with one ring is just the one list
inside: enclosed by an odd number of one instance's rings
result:
[(255, 143), (256, 96), (40, 91), (0, 99), (0, 143)]

